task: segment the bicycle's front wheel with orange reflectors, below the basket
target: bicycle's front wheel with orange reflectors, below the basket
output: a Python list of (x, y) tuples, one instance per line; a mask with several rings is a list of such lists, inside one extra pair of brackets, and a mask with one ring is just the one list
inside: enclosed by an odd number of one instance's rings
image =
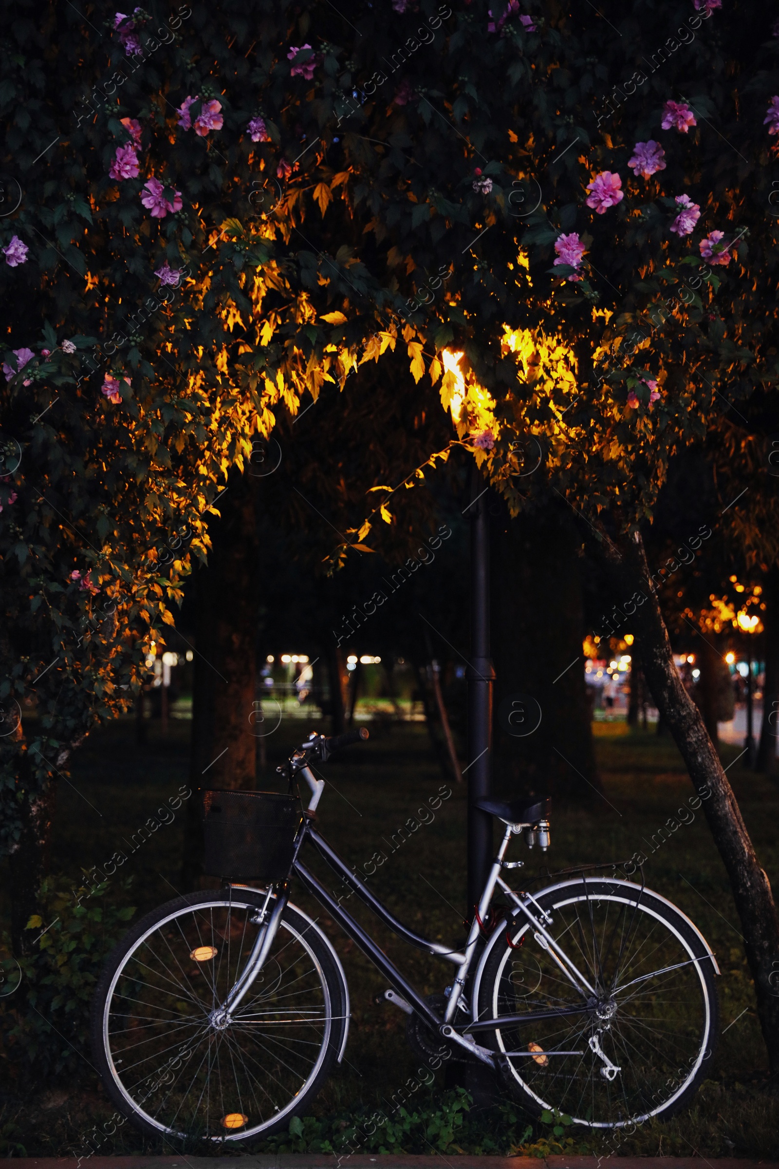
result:
[(267, 1136), (311, 1104), (339, 1058), (346, 983), (326, 935), (291, 905), (231, 1022), (215, 1015), (251, 953), (264, 900), (248, 888), (176, 898), (109, 956), (92, 1051), (109, 1095), (145, 1133)]

